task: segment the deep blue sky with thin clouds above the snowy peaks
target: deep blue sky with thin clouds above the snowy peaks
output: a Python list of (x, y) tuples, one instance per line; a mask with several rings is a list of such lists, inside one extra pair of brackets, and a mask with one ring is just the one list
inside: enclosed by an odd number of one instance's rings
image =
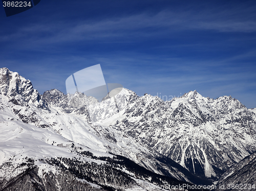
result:
[(256, 1), (41, 0), (10, 17), (0, 10), (0, 67), (41, 94), (66, 93), (70, 75), (100, 64), (107, 83), (139, 96), (196, 89), (254, 108), (255, 10)]

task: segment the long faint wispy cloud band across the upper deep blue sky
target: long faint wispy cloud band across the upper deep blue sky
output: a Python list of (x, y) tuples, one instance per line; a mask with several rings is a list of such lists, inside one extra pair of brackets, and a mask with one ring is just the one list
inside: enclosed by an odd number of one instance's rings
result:
[[(242, 12), (241, 10), (227, 10), (225, 8), (220, 9), (219, 12), (213, 12), (210, 9), (199, 10), (198, 12), (195, 10), (175, 12), (166, 9), (155, 14), (144, 12), (100, 20), (60, 20), (58, 23), (47, 18), (40, 23), (27, 23), (25, 26), (17, 28), (15, 32), (1, 35), (0, 41), (17, 39), (22, 41), (23, 39), (30, 42), (26, 43), (27, 47), (34, 47), (42, 44), (84, 40), (129, 42), (130, 38), (161, 37), (186, 30), (256, 32), (256, 20), (253, 19), (253, 16), (246, 17), (243, 15), (243, 17), (239, 17), (242, 14), (246, 15), (248, 9)], [(254, 12), (252, 15), (256, 16)]]

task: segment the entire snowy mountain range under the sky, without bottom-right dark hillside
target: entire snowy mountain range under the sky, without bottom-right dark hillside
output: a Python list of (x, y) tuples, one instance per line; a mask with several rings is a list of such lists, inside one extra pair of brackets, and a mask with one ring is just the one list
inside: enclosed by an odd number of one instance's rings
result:
[(125, 88), (101, 102), (56, 89), (41, 96), (7, 68), (0, 84), (0, 190), (209, 185), (256, 151), (256, 115), (230, 96), (195, 90), (164, 102)]

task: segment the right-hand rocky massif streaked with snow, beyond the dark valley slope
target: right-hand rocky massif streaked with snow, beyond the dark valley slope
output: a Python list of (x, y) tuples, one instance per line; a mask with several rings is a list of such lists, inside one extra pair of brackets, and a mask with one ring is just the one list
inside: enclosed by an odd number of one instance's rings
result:
[(190, 91), (168, 102), (149, 94), (133, 98), (119, 117), (99, 123), (191, 173), (218, 178), (256, 150), (255, 113), (230, 96), (214, 100)]

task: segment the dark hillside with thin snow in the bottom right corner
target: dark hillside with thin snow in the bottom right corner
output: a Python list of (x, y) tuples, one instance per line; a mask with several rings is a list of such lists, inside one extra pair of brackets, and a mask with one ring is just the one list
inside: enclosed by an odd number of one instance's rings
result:
[(221, 177), (216, 190), (256, 190), (256, 153), (231, 166)]

